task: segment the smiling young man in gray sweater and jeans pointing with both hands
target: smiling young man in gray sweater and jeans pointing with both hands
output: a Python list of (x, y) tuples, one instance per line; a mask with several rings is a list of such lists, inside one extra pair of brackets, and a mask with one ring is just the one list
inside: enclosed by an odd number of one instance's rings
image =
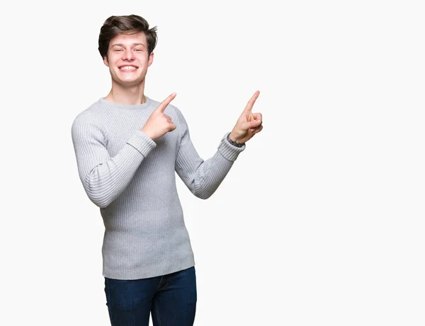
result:
[(72, 141), (86, 194), (105, 225), (103, 276), (111, 325), (193, 325), (195, 261), (176, 191), (176, 174), (201, 199), (225, 178), (246, 141), (263, 128), (256, 91), (217, 151), (204, 161), (169, 95), (145, 95), (156, 27), (140, 16), (111, 16), (98, 50), (111, 91), (77, 115)]

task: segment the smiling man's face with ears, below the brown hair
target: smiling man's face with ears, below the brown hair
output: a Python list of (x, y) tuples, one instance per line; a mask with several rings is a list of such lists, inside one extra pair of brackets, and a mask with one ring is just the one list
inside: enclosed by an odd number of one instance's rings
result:
[(145, 33), (120, 34), (109, 42), (108, 58), (105, 57), (103, 62), (109, 67), (113, 81), (128, 87), (137, 86), (145, 80), (154, 53), (148, 57)]

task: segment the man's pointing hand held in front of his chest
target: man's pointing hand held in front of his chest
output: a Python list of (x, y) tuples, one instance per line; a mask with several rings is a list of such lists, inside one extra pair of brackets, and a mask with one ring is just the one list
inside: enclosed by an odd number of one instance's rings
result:
[(145, 132), (152, 140), (164, 136), (167, 132), (172, 132), (176, 129), (176, 125), (171, 121), (169, 115), (164, 114), (167, 105), (176, 97), (176, 93), (172, 93), (168, 98), (162, 101), (160, 105), (151, 113), (149, 118), (142, 127), (142, 132)]

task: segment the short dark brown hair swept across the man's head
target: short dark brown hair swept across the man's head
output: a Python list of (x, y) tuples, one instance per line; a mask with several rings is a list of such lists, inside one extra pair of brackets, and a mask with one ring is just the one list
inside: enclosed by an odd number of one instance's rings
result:
[(109, 42), (118, 34), (135, 34), (143, 32), (147, 40), (147, 54), (152, 53), (157, 46), (157, 26), (149, 29), (149, 23), (137, 15), (111, 16), (106, 19), (99, 34), (99, 47), (102, 59), (108, 59)]

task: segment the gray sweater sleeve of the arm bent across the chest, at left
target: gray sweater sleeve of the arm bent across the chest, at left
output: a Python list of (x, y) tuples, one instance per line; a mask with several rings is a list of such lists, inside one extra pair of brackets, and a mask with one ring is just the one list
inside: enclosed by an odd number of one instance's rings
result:
[(83, 111), (72, 123), (72, 141), (81, 183), (91, 202), (104, 208), (128, 186), (137, 168), (157, 144), (137, 131), (114, 157), (106, 149), (108, 139), (96, 115)]

